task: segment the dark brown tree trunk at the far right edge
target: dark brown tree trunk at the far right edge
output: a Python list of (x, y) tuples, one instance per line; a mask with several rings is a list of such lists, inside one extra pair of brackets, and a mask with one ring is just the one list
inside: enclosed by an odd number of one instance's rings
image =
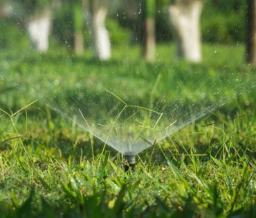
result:
[(256, 0), (247, 0), (247, 22), (246, 60), (256, 64)]

